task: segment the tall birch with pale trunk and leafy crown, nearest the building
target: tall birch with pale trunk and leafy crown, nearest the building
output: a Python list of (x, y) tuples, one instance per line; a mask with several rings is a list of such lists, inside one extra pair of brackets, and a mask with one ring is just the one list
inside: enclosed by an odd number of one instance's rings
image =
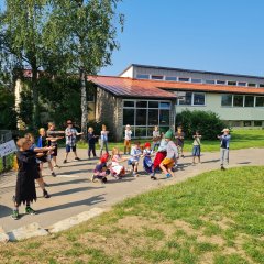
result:
[[(61, 70), (78, 74), (81, 90), (81, 131), (87, 133), (87, 75), (111, 64), (111, 54), (123, 15), (117, 13), (120, 0), (54, 0), (44, 31), (46, 45), (61, 57)], [(118, 18), (118, 20), (117, 20)]]

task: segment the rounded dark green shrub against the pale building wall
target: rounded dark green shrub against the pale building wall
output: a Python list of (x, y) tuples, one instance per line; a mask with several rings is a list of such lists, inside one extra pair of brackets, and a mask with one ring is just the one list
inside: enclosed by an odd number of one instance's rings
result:
[(187, 109), (176, 116), (176, 124), (183, 125), (186, 138), (191, 138), (198, 130), (205, 140), (216, 140), (224, 128), (223, 121), (217, 113)]

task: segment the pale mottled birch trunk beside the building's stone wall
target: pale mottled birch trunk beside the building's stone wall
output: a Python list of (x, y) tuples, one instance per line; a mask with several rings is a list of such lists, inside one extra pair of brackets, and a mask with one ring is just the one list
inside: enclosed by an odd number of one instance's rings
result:
[(80, 91), (81, 91), (81, 132), (84, 133), (82, 140), (87, 139), (87, 123), (88, 123), (88, 106), (87, 106), (87, 95), (86, 95), (86, 73), (81, 68), (80, 72)]

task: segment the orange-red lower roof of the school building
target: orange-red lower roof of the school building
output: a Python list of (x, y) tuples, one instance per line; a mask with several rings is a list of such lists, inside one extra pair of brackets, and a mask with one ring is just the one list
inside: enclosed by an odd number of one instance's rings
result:
[(94, 84), (108, 90), (109, 92), (122, 97), (175, 98), (175, 95), (170, 92), (173, 90), (254, 94), (264, 96), (264, 88), (254, 87), (132, 79), (129, 77), (114, 76), (89, 76), (88, 78)]

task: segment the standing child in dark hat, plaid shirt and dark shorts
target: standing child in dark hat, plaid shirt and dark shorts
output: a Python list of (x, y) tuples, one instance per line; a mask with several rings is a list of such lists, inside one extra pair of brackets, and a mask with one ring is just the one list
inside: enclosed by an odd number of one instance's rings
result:
[(74, 128), (73, 121), (67, 120), (67, 129), (65, 130), (65, 136), (66, 136), (66, 154), (65, 154), (65, 160), (64, 163), (67, 163), (67, 157), (73, 150), (74, 155), (75, 155), (75, 161), (80, 161), (80, 158), (77, 156), (76, 153), (76, 141), (77, 141), (77, 135), (81, 135), (84, 133), (78, 133), (78, 131)]

